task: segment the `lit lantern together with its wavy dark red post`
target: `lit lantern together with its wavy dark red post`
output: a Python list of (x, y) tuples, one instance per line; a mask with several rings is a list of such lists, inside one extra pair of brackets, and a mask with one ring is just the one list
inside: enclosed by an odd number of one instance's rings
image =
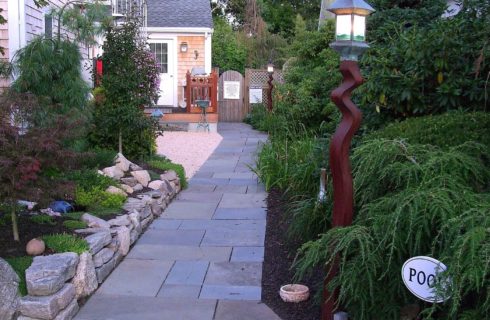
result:
[[(340, 54), (342, 84), (332, 91), (331, 98), (342, 113), (340, 122), (330, 142), (330, 169), (333, 181), (332, 227), (352, 224), (354, 192), (349, 149), (352, 137), (361, 125), (361, 111), (350, 100), (352, 91), (363, 83), (357, 60), (369, 46), (366, 39), (366, 17), (374, 9), (362, 0), (337, 0), (328, 11), (336, 15), (335, 42), (330, 47)], [(322, 320), (346, 318), (337, 313), (337, 291), (330, 291), (328, 284), (338, 272), (339, 257), (329, 266), (324, 286)], [(342, 314), (344, 316), (342, 316)]]

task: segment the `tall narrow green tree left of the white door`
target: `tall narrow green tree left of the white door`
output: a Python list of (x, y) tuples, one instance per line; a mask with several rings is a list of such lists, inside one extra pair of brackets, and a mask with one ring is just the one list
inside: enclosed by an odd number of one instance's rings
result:
[(153, 151), (156, 123), (145, 116), (144, 107), (154, 104), (159, 89), (158, 65), (139, 32), (139, 21), (129, 18), (106, 33), (104, 74), (96, 93), (91, 133), (96, 145), (118, 146), (120, 153), (133, 158)]

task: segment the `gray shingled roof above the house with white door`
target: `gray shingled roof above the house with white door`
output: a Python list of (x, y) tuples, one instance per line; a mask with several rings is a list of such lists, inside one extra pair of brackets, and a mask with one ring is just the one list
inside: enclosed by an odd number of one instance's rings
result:
[(148, 27), (212, 28), (209, 0), (147, 0)]

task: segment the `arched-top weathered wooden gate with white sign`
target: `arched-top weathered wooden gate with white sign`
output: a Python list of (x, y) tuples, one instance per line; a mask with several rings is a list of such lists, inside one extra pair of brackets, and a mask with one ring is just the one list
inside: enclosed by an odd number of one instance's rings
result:
[(243, 76), (237, 71), (226, 71), (219, 77), (219, 121), (242, 122), (247, 114), (243, 100)]

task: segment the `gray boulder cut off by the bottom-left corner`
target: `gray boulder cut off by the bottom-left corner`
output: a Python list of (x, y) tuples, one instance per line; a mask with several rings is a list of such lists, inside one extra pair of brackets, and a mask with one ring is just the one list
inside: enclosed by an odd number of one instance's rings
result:
[(0, 258), (0, 320), (11, 320), (17, 311), (19, 281), (14, 269)]

